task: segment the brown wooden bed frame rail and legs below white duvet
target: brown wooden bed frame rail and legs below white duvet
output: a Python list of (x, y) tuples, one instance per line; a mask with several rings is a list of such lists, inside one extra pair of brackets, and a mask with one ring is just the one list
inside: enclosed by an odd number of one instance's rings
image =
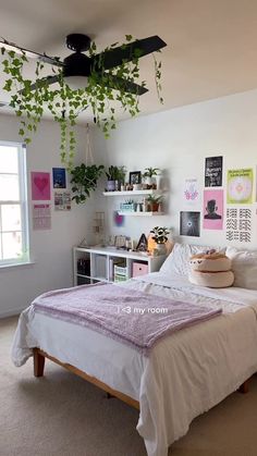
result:
[[(34, 357), (34, 375), (35, 377), (42, 377), (44, 375), (44, 368), (45, 368), (45, 359), (48, 358), (51, 361), (56, 362), (59, 366), (62, 366), (70, 372), (75, 373), (82, 379), (87, 380), (89, 383), (100, 387), (103, 390), (109, 397), (114, 396), (119, 399), (123, 400), (124, 403), (128, 404), (130, 406), (139, 410), (139, 403), (138, 400), (133, 399), (132, 397), (127, 396), (126, 394), (121, 393), (120, 391), (112, 390), (112, 387), (108, 386), (106, 383), (101, 382), (100, 380), (96, 379), (95, 377), (90, 377), (87, 373), (83, 372), (82, 370), (75, 368), (72, 365), (68, 365), (64, 362), (59, 361), (59, 359), (54, 358), (53, 356), (48, 355), (46, 352), (41, 350), (40, 348), (33, 348), (33, 357)], [(249, 379), (246, 380), (237, 390), (240, 393), (248, 393), (249, 391)]]

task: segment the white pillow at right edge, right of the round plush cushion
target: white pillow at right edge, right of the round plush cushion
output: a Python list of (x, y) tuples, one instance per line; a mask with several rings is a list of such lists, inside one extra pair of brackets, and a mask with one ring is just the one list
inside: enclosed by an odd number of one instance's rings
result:
[(232, 260), (234, 286), (257, 289), (257, 251), (228, 247), (225, 255)]

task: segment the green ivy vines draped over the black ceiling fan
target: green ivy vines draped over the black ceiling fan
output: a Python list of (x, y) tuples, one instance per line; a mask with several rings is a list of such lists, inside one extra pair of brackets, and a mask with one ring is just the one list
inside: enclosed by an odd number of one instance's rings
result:
[[(126, 35), (126, 42), (132, 40), (131, 35)], [(103, 52), (114, 49), (114, 44), (103, 50)], [(125, 45), (124, 45), (125, 46)], [(110, 131), (117, 126), (115, 108), (113, 102), (119, 102), (124, 111), (128, 111), (131, 116), (139, 112), (138, 95), (125, 91), (124, 86), (115, 83), (119, 78), (130, 83), (145, 86), (145, 82), (139, 79), (138, 60), (140, 50), (134, 52), (133, 60), (124, 61), (120, 66), (105, 71), (103, 62), (98, 59), (97, 67), (93, 67), (90, 76), (87, 78), (87, 87), (73, 90), (66, 85), (62, 77), (62, 70), (52, 67), (57, 76), (58, 87), (52, 89), (48, 85), (48, 77), (44, 77), (45, 64), (37, 61), (35, 64), (35, 77), (33, 81), (24, 77), (24, 66), (28, 63), (25, 52), (21, 54), (7, 50), (1, 47), (3, 72), (7, 74), (3, 89), (11, 94), (10, 106), (13, 107), (16, 115), (21, 118), (19, 134), (25, 144), (29, 144), (32, 135), (37, 131), (38, 124), (45, 111), (50, 111), (56, 122), (61, 128), (61, 160), (69, 170), (73, 168), (73, 158), (76, 147), (75, 125), (82, 111), (88, 107), (93, 110), (94, 121), (99, 126), (105, 136), (109, 137)], [(89, 57), (98, 53), (95, 42), (89, 48)], [(161, 93), (161, 63), (154, 57), (155, 81), (157, 94), (160, 102), (163, 102)], [(30, 65), (30, 62), (29, 62)], [(113, 88), (107, 84), (113, 77)], [(115, 79), (115, 81), (114, 81)]]

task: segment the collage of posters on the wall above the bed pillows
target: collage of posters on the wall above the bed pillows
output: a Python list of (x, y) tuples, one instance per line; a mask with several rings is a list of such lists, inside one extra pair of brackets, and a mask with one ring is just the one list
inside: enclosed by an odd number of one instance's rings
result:
[[(249, 243), (252, 241), (253, 184), (253, 169), (228, 170), (224, 189), (222, 187), (223, 157), (206, 158), (203, 210), (180, 212), (180, 235), (199, 237), (203, 218), (203, 230), (225, 230), (227, 241)], [(198, 180), (186, 178), (184, 201), (192, 206), (191, 209), (193, 206), (199, 206), (199, 196)]]

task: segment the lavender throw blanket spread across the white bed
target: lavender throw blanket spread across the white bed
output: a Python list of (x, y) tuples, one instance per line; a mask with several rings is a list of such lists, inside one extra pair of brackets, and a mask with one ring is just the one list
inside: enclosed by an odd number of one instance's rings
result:
[(83, 285), (38, 296), (41, 312), (88, 326), (148, 355), (164, 335), (208, 320), (221, 309), (208, 309), (111, 284)]

